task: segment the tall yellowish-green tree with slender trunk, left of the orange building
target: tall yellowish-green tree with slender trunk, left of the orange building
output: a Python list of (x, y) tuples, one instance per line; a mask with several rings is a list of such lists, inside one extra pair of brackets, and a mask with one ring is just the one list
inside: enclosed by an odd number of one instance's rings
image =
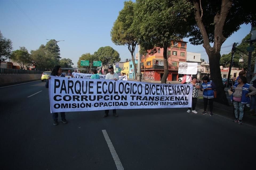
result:
[[(137, 75), (137, 67), (134, 60), (134, 50), (137, 44), (137, 35), (135, 35), (134, 20), (134, 2), (125, 1), (123, 9), (119, 12), (117, 20), (111, 29), (111, 40), (115, 45), (127, 45), (131, 53), (134, 66), (134, 74)], [(134, 77), (137, 79), (137, 76)]]

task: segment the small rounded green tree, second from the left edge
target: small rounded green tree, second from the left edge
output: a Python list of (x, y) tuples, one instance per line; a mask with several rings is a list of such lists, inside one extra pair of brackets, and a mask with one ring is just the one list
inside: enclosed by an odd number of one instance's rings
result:
[(21, 69), (24, 69), (25, 66), (32, 63), (30, 54), (25, 47), (20, 47), (19, 50), (13, 51), (11, 59), (19, 63)]

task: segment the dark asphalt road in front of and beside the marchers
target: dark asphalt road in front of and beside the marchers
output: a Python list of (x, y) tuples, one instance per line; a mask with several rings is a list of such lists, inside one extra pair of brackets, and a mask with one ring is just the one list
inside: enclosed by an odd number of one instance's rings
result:
[(233, 123), (221, 113), (210, 117), (186, 113), (186, 108), (127, 109), (117, 110), (119, 117), (103, 118), (103, 111), (69, 112), (68, 124), (54, 126), (44, 84), (0, 88), (1, 169), (117, 169), (102, 130), (124, 169), (254, 165), (256, 128)]

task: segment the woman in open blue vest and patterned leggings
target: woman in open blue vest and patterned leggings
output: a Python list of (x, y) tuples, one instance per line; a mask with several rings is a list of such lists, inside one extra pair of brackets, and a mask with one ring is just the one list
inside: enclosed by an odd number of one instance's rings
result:
[(239, 76), (237, 82), (238, 83), (235, 83), (234, 86), (231, 87), (231, 91), (233, 91), (233, 94), (231, 95), (231, 101), (233, 102), (235, 113), (235, 119), (233, 122), (238, 122), (242, 125), (243, 109), (245, 108), (246, 104), (250, 103), (249, 96), (256, 94), (256, 88), (250, 86), (250, 84), (247, 84), (246, 77), (243, 76)]

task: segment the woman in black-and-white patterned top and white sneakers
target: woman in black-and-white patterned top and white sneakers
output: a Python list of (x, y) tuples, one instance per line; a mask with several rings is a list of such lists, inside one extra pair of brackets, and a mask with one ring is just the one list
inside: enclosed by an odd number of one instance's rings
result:
[[(192, 77), (191, 82), (188, 82), (187, 84), (193, 85), (193, 92), (192, 92), (192, 112), (197, 114), (197, 111), (195, 110), (195, 106), (197, 105), (197, 97), (198, 97), (198, 89), (200, 89), (200, 84), (197, 83), (197, 78)], [(191, 107), (187, 110), (187, 113), (191, 112)]]

